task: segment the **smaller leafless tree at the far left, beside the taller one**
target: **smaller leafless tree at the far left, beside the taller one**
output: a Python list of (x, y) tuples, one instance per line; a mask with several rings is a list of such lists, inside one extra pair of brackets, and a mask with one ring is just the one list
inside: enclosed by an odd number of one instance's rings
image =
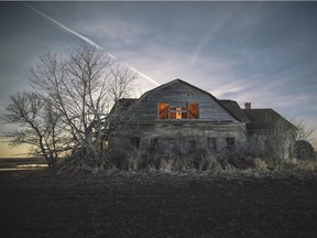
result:
[(50, 167), (55, 167), (59, 154), (69, 145), (58, 112), (35, 93), (11, 96), (4, 108), (7, 121), (19, 126), (9, 134), (13, 138), (11, 145), (30, 144), (32, 155), (44, 158)]

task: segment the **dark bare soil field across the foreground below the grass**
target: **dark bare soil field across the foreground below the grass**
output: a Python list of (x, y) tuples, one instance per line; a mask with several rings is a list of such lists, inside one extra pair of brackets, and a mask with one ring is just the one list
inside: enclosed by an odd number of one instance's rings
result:
[(317, 237), (317, 173), (0, 172), (1, 237)]

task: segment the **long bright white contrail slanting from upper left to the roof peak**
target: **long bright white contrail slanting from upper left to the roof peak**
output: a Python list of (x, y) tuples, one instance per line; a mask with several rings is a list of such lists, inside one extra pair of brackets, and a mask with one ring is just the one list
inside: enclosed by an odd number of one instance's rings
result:
[[(90, 39), (88, 39), (88, 37), (81, 35), (81, 34), (73, 31), (72, 29), (66, 28), (64, 24), (62, 24), (61, 22), (58, 22), (58, 21), (56, 21), (55, 19), (51, 18), (50, 15), (41, 12), (40, 10), (37, 10), (37, 9), (35, 9), (35, 8), (26, 4), (26, 3), (25, 3), (25, 6), (26, 6), (28, 8), (30, 8), (31, 10), (35, 11), (37, 14), (40, 14), (40, 15), (44, 17), (45, 19), (50, 20), (50, 21), (53, 22), (54, 24), (58, 25), (58, 26), (62, 28), (63, 30), (69, 32), (70, 34), (76, 35), (77, 37), (81, 39), (83, 41), (87, 42), (88, 44), (90, 44), (90, 45), (92, 45), (92, 46), (95, 46), (95, 47), (97, 47), (97, 48), (102, 50), (101, 46), (99, 46), (98, 44), (96, 44), (96, 43), (95, 43), (94, 41), (91, 41)], [(111, 58), (113, 58), (113, 60), (117, 61), (117, 57), (114, 57), (112, 54), (110, 54), (110, 53), (107, 53), (107, 54), (109, 55), (109, 57), (111, 57)], [(161, 84), (158, 84), (156, 80), (154, 80), (153, 78), (149, 77), (147, 75), (139, 72), (138, 69), (135, 69), (135, 68), (132, 67), (131, 65), (129, 65), (129, 64), (127, 64), (127, 63), (124, 63), (124, 62), (123, 62), (123, 64), (125, 64), (128, 67), (130, 67), (131, 71), (135, 72), (136, 74), (139, 74), (140, 76), (142, 76), (143, 78), (145, 78), (146, 80), (149, 80), (150, 83), (152, 83), (152, 84), (154, 84), (154, 85), (156, 85), (156, 86), (160, 86), (160, 85), (161, 85)]]

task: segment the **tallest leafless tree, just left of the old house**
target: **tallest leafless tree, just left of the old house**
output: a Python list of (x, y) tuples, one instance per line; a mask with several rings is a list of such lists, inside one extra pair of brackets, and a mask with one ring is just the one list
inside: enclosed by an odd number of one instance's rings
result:
[(102, 51), (81, 43), (68, 57), (45, 54), (33, 68), (31, 82), (62, 117), (72, 134), (79, 162), (98, 159), (95, 140), (102, 137), (113, 100), (129, 95), (135, 75)]

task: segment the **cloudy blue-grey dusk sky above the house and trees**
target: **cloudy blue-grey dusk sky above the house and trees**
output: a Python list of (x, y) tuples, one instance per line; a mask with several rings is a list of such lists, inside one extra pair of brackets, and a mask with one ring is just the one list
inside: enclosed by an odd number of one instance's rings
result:
[(30, 89), (39, 56), (84, 40), (139, 73), (142, 93), (181, 78), (317, 128), (316, 12), (306, 1), (0, 2), (0, 101)]

